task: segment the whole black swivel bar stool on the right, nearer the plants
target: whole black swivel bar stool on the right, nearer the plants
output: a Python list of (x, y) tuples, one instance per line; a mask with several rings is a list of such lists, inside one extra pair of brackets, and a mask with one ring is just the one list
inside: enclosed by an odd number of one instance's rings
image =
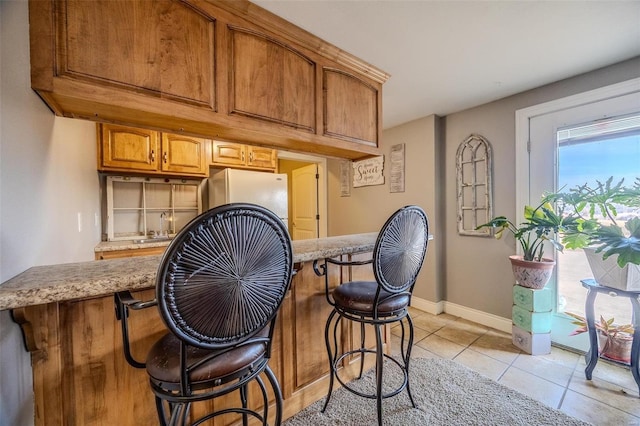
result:
[[(314, 270), (318, 275), (325, 275), (326, 294), (333, 311), (327, 319), (325, 327), (325, 343), (329, 355), (331, 376), (329, 392), (322, 408), (327, 409), (334, 379), (338, 380), (348, 391), (361, 397), (375, 399), (378, 424), (382, 425), (382, 400), (395, 396), (405, 388), (415, 408), (415, 402), (409, 386), (409, 361), (413, 345), (413, 322), (409, 315), (411, 294), (422, 268), (429, 241), (429, 222), (424, 211), (417, 206), (406, 206), (396, 211), (382, 227), (373, 249), (373, 257), (366, 261), (342, 261), (327, 258), (324, 262), (314, 262)], [(353, 266), (373, 264), (376, 281), (350, 281), (329, 290), (328, 264)], [(360, 323), (360, 347), (345, 353), (338, 353), (338, 329), (341, 320), (346, 319)], [(403, 321), (406, 320), (406, 321)], [(399, 322), (402, 327), (401, 360), (383, 352), (381, 327)], [(405, 324), (406, 323), (406, 324)], [(331, 328), (333, 324), (333, 338)], [(375, 350), (365, 347), (365, 325), (370, 324), (376, 333)], [(408, 329), (405, 329), (405, 327)], [(405, 336), (408, 332), (408, 341)], [(406, 343), (406, 344), (405, 344)], [(346, 357), (360, 355), (360, 374), (364, 366), (364, 356), (372, 353), (376, 356), (376, 391), (366, 394), (349, 386), (338, 374), (338, 369)], [(403, 383), (395, 390), (383, 393), (383, 365), (387, 359), (395, 363), (404, 373)]]

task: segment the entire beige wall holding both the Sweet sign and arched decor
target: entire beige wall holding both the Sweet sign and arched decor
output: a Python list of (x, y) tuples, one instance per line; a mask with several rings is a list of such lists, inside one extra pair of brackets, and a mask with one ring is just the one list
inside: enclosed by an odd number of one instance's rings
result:
[[(513, 278), (507, 260), (515, 241), (460, 236), (456, 223), (455, 154), (473, 133), (492, 145), (494, 213), (515, 216), (515, 112), (518, 109), (640, 77), (640, 58), (451, 114), (430, 116), (385, 130), (385, 184), (351, 188), (340, 197), (340, 162), (329, 162), (329, 235), (377, 231), (406, 204), (429, 215), (434, 241), (414, 295), (429, 302), (479, 311), (508, 320)], [(389, 192), (390, 147), (404, 143), (406, 187)]]

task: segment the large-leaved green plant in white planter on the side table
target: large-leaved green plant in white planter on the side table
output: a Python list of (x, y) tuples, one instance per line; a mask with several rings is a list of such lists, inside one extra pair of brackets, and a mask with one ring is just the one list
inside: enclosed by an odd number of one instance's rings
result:
[[(624, 179), (613, 184), (610, 177), (548, 194), (543, 201), (555, 202), (563, 216), (572, 218), (559, 230), (561, 244), (584, 249), (599, 284), (640, 290), (640, 178), (627, 187)], [(636, 211), (621, 220), (621, 206)]]

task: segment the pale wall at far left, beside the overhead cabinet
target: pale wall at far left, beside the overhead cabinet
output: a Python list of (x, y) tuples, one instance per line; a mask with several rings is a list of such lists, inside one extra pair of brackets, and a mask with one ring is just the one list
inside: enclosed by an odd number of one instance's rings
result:
[[(27, 9), (0, 1), (0, 282), (35, 265), (92, 260), (100, 241), (95, 124), (55, 117), (31, 90)], [(0, 365), (0, 425), (33, 424), (30, 360), (7, 311)]]

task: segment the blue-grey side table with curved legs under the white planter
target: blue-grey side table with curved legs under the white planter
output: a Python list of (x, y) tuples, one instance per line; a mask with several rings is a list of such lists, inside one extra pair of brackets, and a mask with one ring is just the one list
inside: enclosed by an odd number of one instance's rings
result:
[[(593, 279), (581, 280), (582, 286), (587, 289), (587, 300), (585, 302), (585, 316), (587, 318), (587, 330), (589, 332), (589, 352), (585, 355), (587, 367), (584, 374), (587, 380), (591, 380), (591, 373), (598, 362), (598, 335), (595, 327), (595, 309), (593, 304), (596, 296), (600, 293), (609, 296), (627, 297), (631, 301), (633, 308), (633, 341), (631, 343), (631, 374), (638, 385), (640, 392), (640, 365), (638, 364), (638, 356), (640, 355), (640, 291), (619, 290), (613, 287), (604, 287)], [(615, 362), (615, 361), (614, 361)], [(618, 364), (628, 365), (618, 362)]]

